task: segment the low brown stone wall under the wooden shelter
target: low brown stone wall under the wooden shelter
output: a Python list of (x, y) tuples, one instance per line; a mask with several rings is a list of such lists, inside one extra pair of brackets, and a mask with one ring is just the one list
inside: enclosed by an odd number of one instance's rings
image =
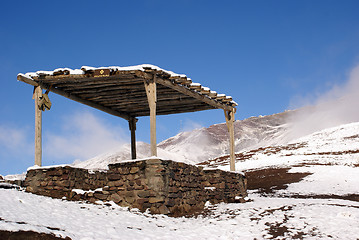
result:
[(26, 191), (39, 195), (113, 201), (170, 216), (200, 211), (206, 201), (235, 202), (247, 196), (246, 179), (239, 173), (160, 159), (110, 164), (106, 172), (69, 166), (32, 169), (24, 184)]

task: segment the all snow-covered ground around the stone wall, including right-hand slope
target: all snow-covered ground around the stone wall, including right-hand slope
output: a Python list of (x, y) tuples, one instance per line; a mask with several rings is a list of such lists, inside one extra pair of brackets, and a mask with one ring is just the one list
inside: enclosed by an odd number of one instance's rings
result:
[[(203, 214), (187, 218), (0, 189), (0, 230), (72, 239), (359, 239), (359, 202), (337, 199), (359, 196), (358, 133), (359, 123), (352, 123), (288, 145), (240, 152), (239, 171), (290, 168), (311, 175), (272, 194), (251, 190), (244, 204), (207, 205)], [(212, 167), (227, 170), (225, 158), (213, 160)]]

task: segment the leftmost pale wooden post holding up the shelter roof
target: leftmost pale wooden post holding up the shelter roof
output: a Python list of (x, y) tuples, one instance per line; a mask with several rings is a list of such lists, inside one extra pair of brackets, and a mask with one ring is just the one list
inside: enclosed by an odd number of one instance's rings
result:
[(40, 86), (35, 87), (33, 98), (35, 99), (35, 165), (42, 165), (42, 111), (39, 108), (39, 100), (42, 96)]

